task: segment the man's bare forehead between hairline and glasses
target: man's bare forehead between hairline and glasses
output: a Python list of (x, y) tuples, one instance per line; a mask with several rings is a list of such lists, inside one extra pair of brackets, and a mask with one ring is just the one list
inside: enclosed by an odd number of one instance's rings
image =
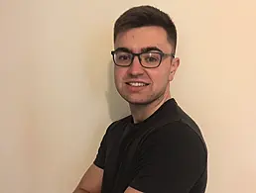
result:
[(163, 51), (171, 51), (172, 46), (168, 42), (167, 33), (161, 27), (134, 28), (120, 33), (116, 37), (115, 48), (129, 48), (134, 52), (141, 48), (157, 47)]

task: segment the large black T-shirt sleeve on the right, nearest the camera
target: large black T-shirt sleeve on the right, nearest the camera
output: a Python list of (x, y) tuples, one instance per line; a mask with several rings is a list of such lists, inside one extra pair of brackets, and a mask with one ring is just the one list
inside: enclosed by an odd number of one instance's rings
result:
[(206, 168), (206, 148), (186, 124), (166, 126), (141, 146), (130, 186), (147, 193), (186, 193)]

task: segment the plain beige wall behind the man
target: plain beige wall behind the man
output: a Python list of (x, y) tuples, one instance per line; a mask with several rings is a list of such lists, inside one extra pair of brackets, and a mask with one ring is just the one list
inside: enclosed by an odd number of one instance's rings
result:
[(112, 27), (152, 3), (179, 30), (172, 94), (209, 149), (207, 193), (256, 192), (256, 2), (0, 0), (0, 192), (70, 193), (106, 127), (128, 113)]

